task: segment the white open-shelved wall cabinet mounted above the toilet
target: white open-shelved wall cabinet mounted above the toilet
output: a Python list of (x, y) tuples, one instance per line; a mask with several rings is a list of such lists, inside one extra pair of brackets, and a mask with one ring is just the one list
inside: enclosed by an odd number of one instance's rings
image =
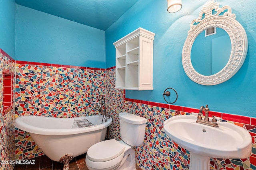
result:
[(116, 87), (153, 90), (153, 40), (155, 33), (139, 27), (114, 42)]

